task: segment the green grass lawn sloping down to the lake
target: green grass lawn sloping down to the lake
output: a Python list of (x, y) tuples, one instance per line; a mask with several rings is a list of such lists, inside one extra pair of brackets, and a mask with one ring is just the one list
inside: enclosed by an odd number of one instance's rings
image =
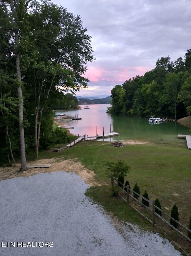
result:
[[(53, 155), (55, 157), (52, 151), (46, 152), (46, 158)], [(169, 215), (172, 206), (176, 204), (179, 222), (188, 227), (191, 217), (191, 150), (186, 147), (134, 144), (120, 148), (112, 147), (106, 141), (81, 141), (70, 149), (56, 153), (56, 156), (78, 159), (86, 168), (94, 171), (96, 180), (103, 186), (92, 187), (86, 194), (120, 219), (140, 224), (145, 228), (146, 221), (143, 221), (127, 203), (113, 198), (110, 186), (104, 185), (110, 185), (110, 179), (105, 175), (104, 160), (124, 160), (131, 166), (130, 173), (125, 178), (125, 181), (129, 181), (131, 189), (137, 183), (141, 195), (147, 190), (149, 200), (158, 198), (162, 209)], [(43, 152), (39, 153), (39, 157), (44, 157)], [(152, 225), (148, 226), (152, 228)]]

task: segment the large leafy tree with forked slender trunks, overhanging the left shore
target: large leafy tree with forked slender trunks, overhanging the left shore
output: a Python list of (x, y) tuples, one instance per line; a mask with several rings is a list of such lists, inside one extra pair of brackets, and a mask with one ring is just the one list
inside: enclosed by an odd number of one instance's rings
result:
[[(30, 86), (30, 104), (35, 116), (35, 158), (38, 158), (41, 120), (47, 115), (52, 91), (79, 91), (87, 87), (83, 76), (87, 61), (93, 61), (91, 37), (79, 16), (63, 7), (44, 4), (29, 16), (31, 48), (25, 82)], [(32, 101), (32, 99), (35, 99)], [(73, 106), (75, 104), (72, 101)]]

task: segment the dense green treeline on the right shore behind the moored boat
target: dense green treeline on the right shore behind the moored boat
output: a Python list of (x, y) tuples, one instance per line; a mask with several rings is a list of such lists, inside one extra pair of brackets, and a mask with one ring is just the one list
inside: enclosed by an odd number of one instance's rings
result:
[(144, 74), (116, 85), (109, 113), (137, 117), (182, 118), (191, 112), (191, 49), (183, 58), (161, 57)]

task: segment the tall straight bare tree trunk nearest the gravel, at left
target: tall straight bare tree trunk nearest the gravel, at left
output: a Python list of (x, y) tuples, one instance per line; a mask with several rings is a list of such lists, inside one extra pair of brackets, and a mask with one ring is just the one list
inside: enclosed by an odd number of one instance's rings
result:
[[(17, 0), (16, 8), (19, 7), (19, 0)], [(18, 13), (14, 10), (13, 0), (10, 1), (11, 11), (13, 13), (14, 33), (15, 33), (15, 52), (16, 52), (16, 71), (18, 79), (18, 96), (19, 96), (19, 132), (20, 132), (20, 151), (21, 151), (21, 168), (20, 171), (27, 171), (26, 155), (25, 155), (25, 142), (24, 142), (24, 127), (23, 127), (23, 94), (21, 87), (21, 70), (20, 70), (20, 57), (19, 57), (19, 31), (17, 28)]]

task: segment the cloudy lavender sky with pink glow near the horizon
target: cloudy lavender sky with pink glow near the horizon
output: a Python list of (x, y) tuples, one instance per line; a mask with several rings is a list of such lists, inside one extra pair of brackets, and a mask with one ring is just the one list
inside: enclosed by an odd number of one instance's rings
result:
[(81, 17), (92, 37), (88, 88), (76, 96), (110, 96), (115, 85), (155, 68), (158, 58), (184, 59), (191, 48), (190, 0), (51, 0)]

